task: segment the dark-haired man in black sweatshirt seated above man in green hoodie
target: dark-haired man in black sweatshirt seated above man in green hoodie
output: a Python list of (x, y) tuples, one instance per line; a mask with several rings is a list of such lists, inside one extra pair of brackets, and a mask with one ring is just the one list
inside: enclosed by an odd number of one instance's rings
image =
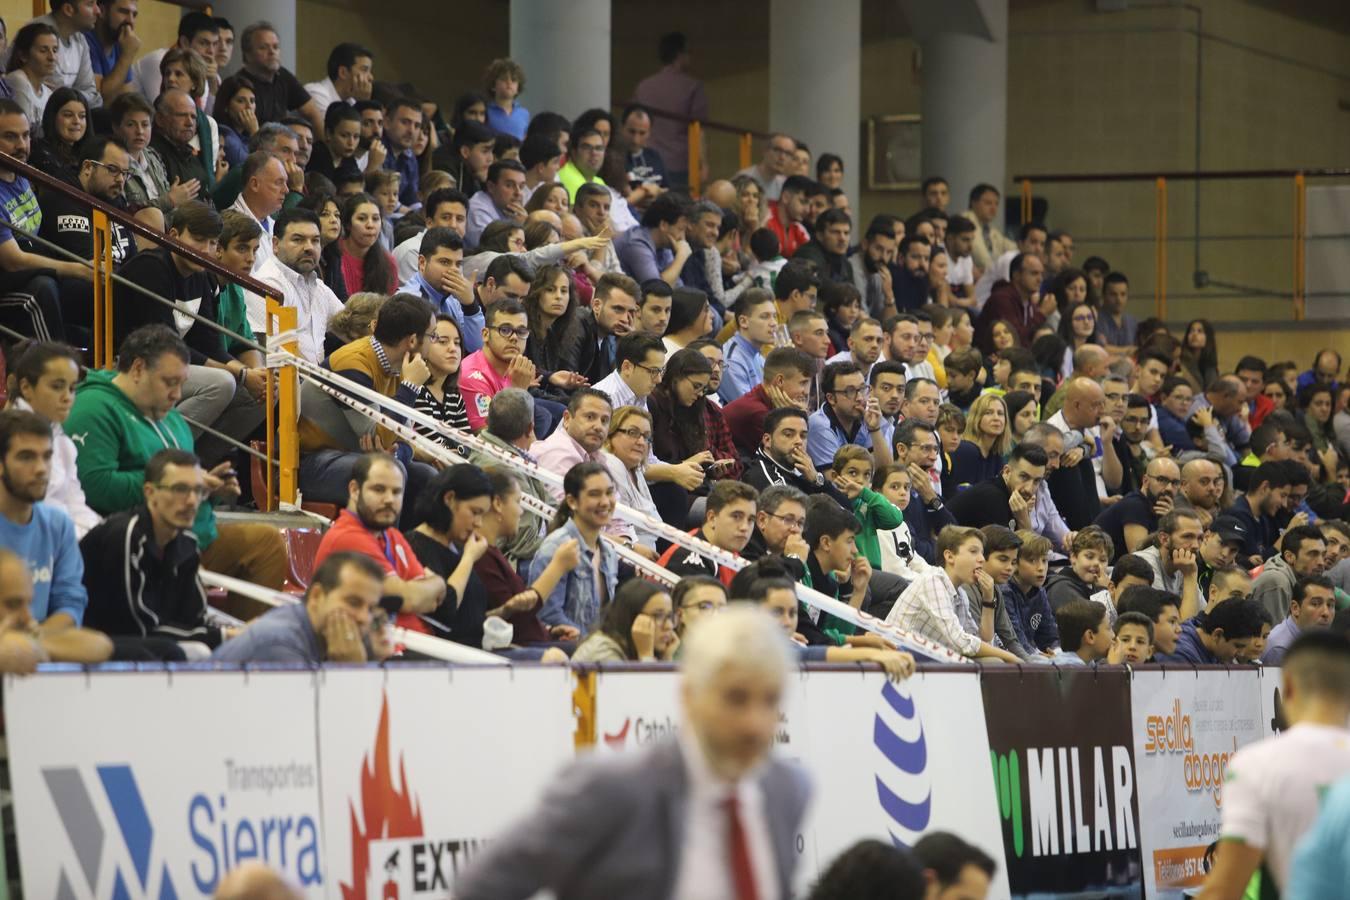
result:
[[(167, 233), (200, 254), (213, 255), (212, 246), (221, 227), (220, 213), (192, 200), (173, 210)], [(266, 389), (266, 372), (250, 370), (231, 356), (221, 332), (188, 314), (216, 321), (217, 289), (212, 275), (167, 247), (136, 254), (119, 274), (143, 290), (122, 282), (113, 289), (116, 344), (120, 345), (127, 335), (143, 325), (166, 325), (188, 344), (190, 364), (178, 410), (192, 422), (240, 440), (262, 425), (266, 413), (250, 386), (261, 397)], [(174, 306), (147, 297), (144, 291), (171, 300)], [(192, 432), (196, 449), (207, 466), (215, 466), (230, 453), (230, 445), (219, 437), (201, 432), (196, 425)]]

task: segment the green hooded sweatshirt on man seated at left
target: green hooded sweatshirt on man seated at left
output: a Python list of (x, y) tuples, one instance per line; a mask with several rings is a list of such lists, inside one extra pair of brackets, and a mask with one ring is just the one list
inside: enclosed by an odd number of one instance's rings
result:
[[(78, 448), (76, 471), (85, 499), (100, 515), (112, 515), (144, 503), (142, 484), (150, 457), (173, 447), (192, 451), (192, 432), (178, 410), (158, 422), (140, 414), (131, 398), (112, 383), (116, 372), (89, 370), (76, 390), (65, 430)], [(197, 544), (216, 540), (216, 513), (209, 502), (193, 524)]]

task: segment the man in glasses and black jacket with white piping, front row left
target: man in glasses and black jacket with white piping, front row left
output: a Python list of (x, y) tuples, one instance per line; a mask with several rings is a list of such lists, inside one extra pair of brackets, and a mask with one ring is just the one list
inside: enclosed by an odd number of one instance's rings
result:
[(192, 524), (205, 499), (205, 478), (193, 453), (159, 451), (146, 464), (144, 505), (109, 515), (80, 541), (86, 627), (211, 648), (228, 637), (207, 622), (207, 588), (197, 576)]

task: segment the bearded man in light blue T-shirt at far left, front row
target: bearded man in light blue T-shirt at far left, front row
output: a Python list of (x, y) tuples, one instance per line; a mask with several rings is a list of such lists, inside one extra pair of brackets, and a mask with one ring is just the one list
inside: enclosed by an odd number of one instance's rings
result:
[(55, 663), (103, 663), (112, 654), (108, 638), (80, 627), (89, 596), (74, 525), (59, 506), (42, 502), (51, 453), (47, 420), (19, 409), (0, 413), (0, 545), (38, 573), (23, 609), (0, 609), (0, 618), (14, 617)]

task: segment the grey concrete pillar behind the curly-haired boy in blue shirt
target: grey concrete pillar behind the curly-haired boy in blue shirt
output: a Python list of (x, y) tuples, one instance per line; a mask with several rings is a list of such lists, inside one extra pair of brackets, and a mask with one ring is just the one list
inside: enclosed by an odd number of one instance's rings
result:
[(510, 55), (525, 66), (521, 104), (568, 119), (609, 109), (610, 0), (510, 0)]

